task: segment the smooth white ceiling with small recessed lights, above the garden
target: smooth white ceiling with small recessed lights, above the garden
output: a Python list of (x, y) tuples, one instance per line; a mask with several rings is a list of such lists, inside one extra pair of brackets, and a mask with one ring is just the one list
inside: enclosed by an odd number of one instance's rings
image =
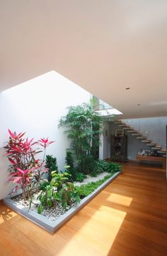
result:
[(124, 118), (167, 115), (167, 1), (0, 1), (0, 89), (50, 70)]

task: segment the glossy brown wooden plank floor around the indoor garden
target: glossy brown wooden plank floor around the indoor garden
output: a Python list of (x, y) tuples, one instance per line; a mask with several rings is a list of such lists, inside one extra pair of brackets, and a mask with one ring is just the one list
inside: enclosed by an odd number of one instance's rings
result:
[(0, 255), (167, 255), (165, 172), (127, 164), (123, 174), (56, 234), (0, 206)]

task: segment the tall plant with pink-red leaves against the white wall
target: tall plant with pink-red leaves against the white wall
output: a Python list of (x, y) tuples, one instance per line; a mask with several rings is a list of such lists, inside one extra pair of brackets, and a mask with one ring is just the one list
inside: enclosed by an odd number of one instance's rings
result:
[[(16, 192), (19, 188), (23, 190), (23, 198), (29, 198), (32, 195), (32, 191), (39, 188), (42, 175), (47, 171), (45, 169), (45, 151), (47, 146), (53, 142), (49, 142), (49, 139), (40, 139), (38, 142), (33, 142), (33, 139), (24, 139), (25, 132), (16, 134), (8, 129), (10, 135), (6, 149), (6, 156), (10, 161), (9, 166), (9, 178), (8, 181), (17, 183), (17, 186), (13, 189)], [(36, 155), (42, 152), (39, 149), (34, 148), (35, 145), (42, 146), (43, 159), (35, 159)]]

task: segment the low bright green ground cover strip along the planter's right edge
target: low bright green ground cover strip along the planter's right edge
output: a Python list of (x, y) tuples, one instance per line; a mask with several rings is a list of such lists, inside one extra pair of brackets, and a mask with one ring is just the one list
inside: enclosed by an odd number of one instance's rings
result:
[(100, 179), (99, 181), (90, 182), (85, 185), (78, 186), (77, 188), (79, 190), (80, 197), (84, 198), (88, 196), (90, 193), (95, 191), (96, 188), (98, 188), (98, 186), (100, 186), (103, 182), (107, 181), (108, 178), (110, 178), (111, 176), (113, 176), (113, 174), (108, 174), (103, 179)]

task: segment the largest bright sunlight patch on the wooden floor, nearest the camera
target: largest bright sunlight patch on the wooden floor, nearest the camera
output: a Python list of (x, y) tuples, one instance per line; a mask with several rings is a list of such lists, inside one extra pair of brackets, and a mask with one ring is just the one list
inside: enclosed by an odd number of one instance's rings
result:
[[(82, 222), (81, 215), (79, 218), (74, 218), (71, 221), (71, 225), (78, 225), (78, 228), (79, 225), (81, 225), (81, 228), (79, 228), (74, 237), (78, 242), (83, 242), (84, 245), (86, 244), (88, 251), (91, 250), (90, 247), (96, 247), (98, 250), (96, 255), (98, 255), (98, 252), (101, 253), (100, 255), (104, 255), (103, 252), (107, 255), (126, 214), (127, 213), (122, 210), (116, 210), (108, 206), (100, 206), (100, 208), (93, 213), (91, 218), (88, 217), (86, 221), (83, 220)], [(79, 224), (79, 220), (81, 220), (81, 224)], [(67, 245), (63, 247), (61, 252), (59, 252), (59, 255), (67, 255), (66, 253), (69, 252), (69, 247), (72, 247), (76, 240), (70, 240)]]

